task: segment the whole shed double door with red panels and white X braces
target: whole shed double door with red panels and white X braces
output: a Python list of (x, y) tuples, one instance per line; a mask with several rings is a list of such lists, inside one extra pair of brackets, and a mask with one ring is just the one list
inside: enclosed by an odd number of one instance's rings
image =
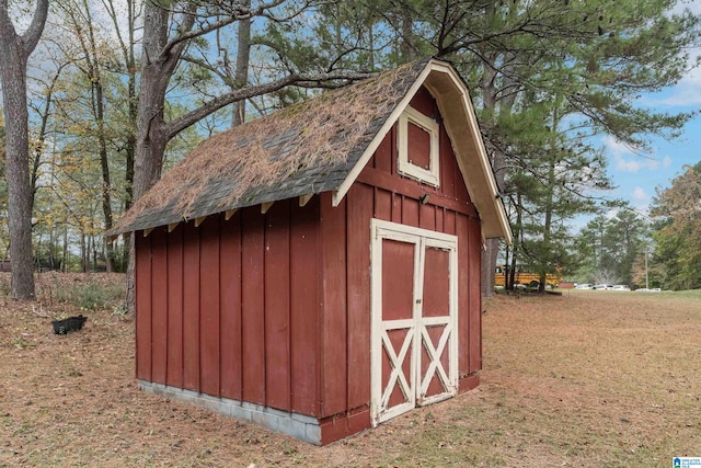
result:
[(458, 390), (458, 238), (371, 224), (372, 425)]

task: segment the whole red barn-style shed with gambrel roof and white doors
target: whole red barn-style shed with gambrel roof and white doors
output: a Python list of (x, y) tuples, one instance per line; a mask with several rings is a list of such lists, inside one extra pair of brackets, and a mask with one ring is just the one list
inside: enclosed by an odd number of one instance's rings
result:
[(314, 444), (478, 385), (482, 244), (510, 241), (435, 59), (207, 139), (117, 231), (139, 386)]

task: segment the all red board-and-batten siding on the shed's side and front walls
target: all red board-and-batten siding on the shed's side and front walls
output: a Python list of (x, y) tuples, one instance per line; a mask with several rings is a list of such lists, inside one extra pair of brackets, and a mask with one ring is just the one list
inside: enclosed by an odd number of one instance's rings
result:
[[(398, 126), (337, 207), (332, 194), (136, 233), (137, 378), (370, 427), (370, 219), (458, 237), (459, 391), (482, 367), (481, 230), (435, 101), (437, 187), (398, 172)], [(426, 204), (420, 198), (429, 194)]]

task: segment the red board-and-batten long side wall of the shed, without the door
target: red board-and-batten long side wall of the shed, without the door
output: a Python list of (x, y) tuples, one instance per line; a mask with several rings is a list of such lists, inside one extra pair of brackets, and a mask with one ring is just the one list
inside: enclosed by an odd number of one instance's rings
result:
[(138, 378), (320, 414), (319, 197), (296, 202), (137, 233)]

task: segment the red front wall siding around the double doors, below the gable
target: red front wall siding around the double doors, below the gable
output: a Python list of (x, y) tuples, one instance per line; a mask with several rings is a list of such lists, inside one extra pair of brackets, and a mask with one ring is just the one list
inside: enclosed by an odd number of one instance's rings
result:
[[(460, 181), (462, 184), (462, 181)], [(369, 199), (371, 197), (371, 199)], [(399, 209), (392, 209), (391, 201), (397, 201)], [(370, 396), (370, 320), (369, 320), (369, 217), (394, 220), (411, 226), (439, 232), (457, 235), (458, 240), (458, 335), (460, 340), (458, 373), (461, 378), (474, 375), (481, 368), (481, 298), (480, 298), (480, 222), (473, 216), (456, 213), (443, 207), (421, 205), (409, 196), (392, 194), (363, 183), (356, 183), (346, 195), (346, 236), (347, 236), (347, 354), (348, 368), (345, 385), (348, 388), (346, 410), (354, 410), (369, 403)], [(326, 204), (322, 213), (337, 209)], [(400, 214), (395, 219), (392, 213)], [(423, 215), (422, 215), (423, 214)], [(423, 218), (422, 218), (423, 216)], [(424, 219), (420, 222), (417, 220)], [(367, 224), (367, 226), (366, 226)], [(363, 227), (360, 227), (363, 226)], [(350, 267), (350, 259), (358, 267)], [(327, 265), (333, 269), (334, 265)], [(335, 265), (337, 269), (338, 265)], [(329, 270), (324, 270), (324, 274)], [(350, 273), (353, 272), (353, 273)], [(363, 285), (359, 278), (364, 277)], [(384, 296), (383, 296), (384, 297)], [(352, 299), (350, 299), (352, 298)], [(356, 307), (355, 305), (363, 305)], [(324, 312), (326, 309), (324, 309)], [(332, 313), (336, 313), (334, 310)], [(334, 334), (335, 335), (335, 334)], [(334, 343), (338, 347), (338, 343)], [(322, 355), (336, 355), (331, 349), (324, 349)], [(343, 354), (342, 354), (343, 355)], [(343, 365), (336, 363), (340, 367)], [(353, 367), (352, 367), (353, 366)], [(352, 370), (353, 369), (353, 370)], [(355, 370), (357, 369), (357, 370)], [(473, 385), (472, 385), (473, 386)], [(471, 386), (471, 387), (472, 387)], [(469, 388), (471, 388), (469, 387)], [(468, 387), (466, 387), (468, 388)], [(461, 387), (463, 389), (463, 387)], [(323, 412), (324, 416), (331, 415)], [(369, 420), (369, 416), (368, 416)]]

